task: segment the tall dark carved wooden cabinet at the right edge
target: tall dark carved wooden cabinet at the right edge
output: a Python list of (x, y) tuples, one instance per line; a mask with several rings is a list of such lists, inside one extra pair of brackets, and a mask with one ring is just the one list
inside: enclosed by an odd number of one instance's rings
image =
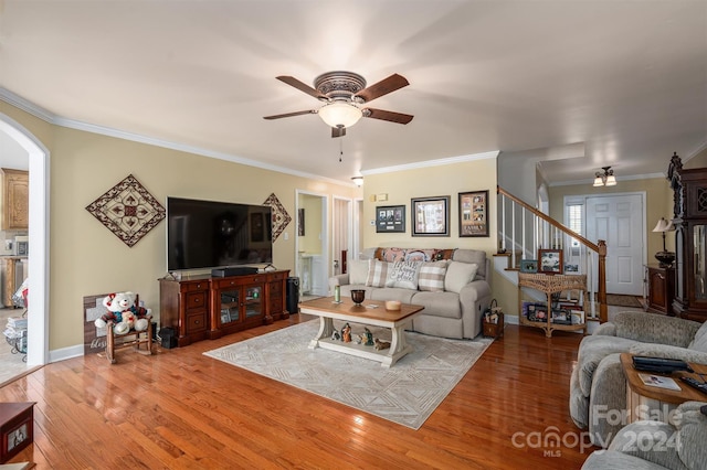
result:
[(671, 161), (674, 191), (675, 300), (673, 311), (689, 320), (707, 320), (707, 168), (684, 170)]

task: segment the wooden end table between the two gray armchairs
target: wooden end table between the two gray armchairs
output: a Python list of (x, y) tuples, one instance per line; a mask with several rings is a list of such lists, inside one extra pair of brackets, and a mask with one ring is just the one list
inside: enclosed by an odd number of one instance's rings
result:
[[(689, 363), (689, 366), (693, 367), (693, 371), (696, 373), (679, 371), (666, 375), (636, 371), (633, 366), (633, 355), (630, 353), (621, 354), (621, 363), (623, 365), (623, 372), (626, 375), (626, 407), (629, 410), (629, 423), (633, 423), (639, 419), (655, 420), (656, 416), (662, 416), (665, 419), (668, 417), (665, 415), (668, 415), (669, 412), (677, 408), (677, 405), (684, 402), (707, 402), (707, 394), (704, 394), (680, 381), (682, 376), (692, 376), (701, 381), (703, 378), (697, 375), (697, 373), (707, 374), (707, 365)], [(672, 391), (645, 385), (639, 374), (671, 377), (679, 385), (680, 389)]]

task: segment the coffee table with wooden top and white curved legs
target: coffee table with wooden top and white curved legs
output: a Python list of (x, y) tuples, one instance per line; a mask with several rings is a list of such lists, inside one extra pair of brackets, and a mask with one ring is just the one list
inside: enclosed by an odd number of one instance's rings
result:
[[(386, 310), (384, 301), (369, 300), (361, 306), (356, 306), (348, 298), (342, 298), (341, 302), (337, 303), (334, 301), (334, 297), (324, 297), (299, 303), (302, 313), (317, 316), (320, 321), (319, 332), (309, 342), (310, 349), (324, 348), (378, 361), (383, 367), (390, 367), (400, 357), (412, 351), (412, 346), (405, 342), (404, 329), (423, 309), (424, 307), (422, 306), (402, 303), (400, 310)], [(374, 346), (357, 344), (355, 341), (347, 343), (340, 340), (333, 340), (334, 320), (389, 328), (391, 330), (390, 348), (378, 351)]]

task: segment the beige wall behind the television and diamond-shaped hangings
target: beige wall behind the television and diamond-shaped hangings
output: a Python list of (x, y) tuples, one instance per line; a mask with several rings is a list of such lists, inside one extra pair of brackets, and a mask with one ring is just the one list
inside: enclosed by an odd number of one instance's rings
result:
[[(140, 293), (159, 310), (157, 279), (166, 274), (166, 224), (129, 248), (85, 207), (128, 174), (160, 202), (168, 195), (262, 204), (275, 193), (294, 218), (295, 192), (354, 197), (348, 185), (293, 177), (222, 160), (44, 122), (0, 102), (0, 113), (28, 128), (50, 150), (50, 350), (83, 343), (83, 297)], [(30, 174), (30, 179), (32, 175)], [(274, 264), (295, 266), (295, 224), (274, 244)]]

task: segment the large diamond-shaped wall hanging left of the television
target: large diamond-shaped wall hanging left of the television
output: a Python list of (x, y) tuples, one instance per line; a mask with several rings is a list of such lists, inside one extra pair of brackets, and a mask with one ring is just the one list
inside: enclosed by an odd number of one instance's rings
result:
[(130, 247), (165, 218), (165, 207), (131, 174), (86, 211)]

